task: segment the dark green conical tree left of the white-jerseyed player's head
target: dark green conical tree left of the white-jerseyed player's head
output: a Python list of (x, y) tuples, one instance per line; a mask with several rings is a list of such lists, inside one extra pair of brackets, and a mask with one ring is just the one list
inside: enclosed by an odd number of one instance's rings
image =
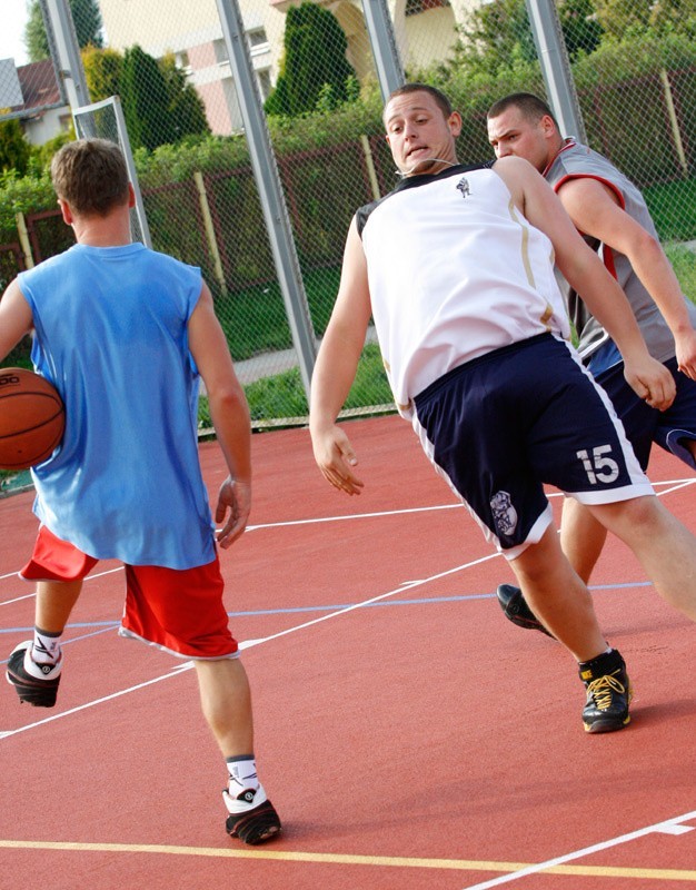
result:
[(355, 69), (346, 59), (348, 40), (337, 18), (317, 3), (290, 7), (285, 56), (276, 89), (266, 100), (269, 115), (296, 117), (356, 98)]

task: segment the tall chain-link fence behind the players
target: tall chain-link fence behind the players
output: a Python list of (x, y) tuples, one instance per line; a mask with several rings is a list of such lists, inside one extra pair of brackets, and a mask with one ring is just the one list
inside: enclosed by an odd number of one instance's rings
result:
[[(99, 23), (91, 39), (81, 38), (84, 76), (91, 101), (120, 97), (152, 246), (202, 267), (255, 425), (304, 421), (306, 380), (288, 286), (245, 131), (220, 0), (69, 4), (76, 31), (80, 17)], [(689, 249), (696, 239), (696, 0), (556, 6), (587, 141), (644, 189), (685, 293), (696, 297)], [(314, 348), (336, 296), (352, 214), (397, 181), (380, 119), (378, 66), (360, 0), (239, 0), (239, 9), (272, 145), (267, 166), (281, 184)], [(463, 112), (463, 161), (493, 157), (486, 111), (495, 100), (515, 90), (547, 98), (525, 0), (394, 0), (389, 13), (406, 78), (443, 88)], [(3, 70), (0, 63), (0, 78)], [(6, 117), (0, 127), (9, 122)], [(47, 178), (38, 165), (29, 172), (2, 180), (0, 285), (70, 237), (51, 216)], [(348, 407), (390, 406), (370, 335)], [(205, 404), (202, 411), (205, 426)]]

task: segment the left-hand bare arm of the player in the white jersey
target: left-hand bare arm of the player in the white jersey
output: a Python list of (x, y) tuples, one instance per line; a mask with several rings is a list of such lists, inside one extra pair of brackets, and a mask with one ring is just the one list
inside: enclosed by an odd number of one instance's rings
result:
[(357, 457), (337, 425), (355, 379), (371, 314), (367, 263), (354, 219), (348, 231), (340, 286), (319, 348), (311, 382), (309, 429), (315, 459), (325, 478), (346, 494), (360, 494), (352, 467)]

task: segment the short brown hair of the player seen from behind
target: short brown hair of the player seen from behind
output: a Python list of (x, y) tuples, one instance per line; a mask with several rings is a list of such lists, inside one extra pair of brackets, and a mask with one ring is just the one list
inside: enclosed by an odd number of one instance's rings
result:
[(81, 216), (106, 216), (128, 201), (123, 152), (107, 139), (68, 142), (51, 161), (51, 181), (59, 198)]

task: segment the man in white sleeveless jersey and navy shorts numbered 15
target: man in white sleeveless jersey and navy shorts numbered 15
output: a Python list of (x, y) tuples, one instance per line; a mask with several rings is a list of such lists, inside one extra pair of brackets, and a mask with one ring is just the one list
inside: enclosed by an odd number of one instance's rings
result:
[(630, 719), (626, 665), (563, 554), (543, 486), (584, 503), (693, 620), (696, 541), (654, 496), (606, 394), (568, 343), (554, 251), (614, 337), (637, 395), (666, 408), (674, 379), (531, 165), (460, 166), (461, 118), (429, 86), (396, 90), (384, 119), (402, 179), (361, 208), (348, 233), (312, 380), (315, 458), (331, 485), (360, 493), (357, 457), (336, 419), (372, 316), (399, 413), (578, 662), (586, 731), (620, 730)]

